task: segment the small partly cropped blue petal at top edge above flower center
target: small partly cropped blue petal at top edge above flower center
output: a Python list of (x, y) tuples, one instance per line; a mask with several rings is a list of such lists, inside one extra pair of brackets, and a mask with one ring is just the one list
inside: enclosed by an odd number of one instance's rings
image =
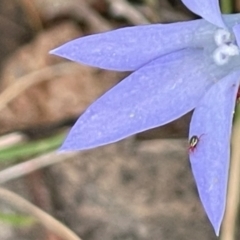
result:
[(222, 19), (219, 0), (182, 0), (182, 2), (194, 13), (206, 19), (210, 23), (226, 28)]

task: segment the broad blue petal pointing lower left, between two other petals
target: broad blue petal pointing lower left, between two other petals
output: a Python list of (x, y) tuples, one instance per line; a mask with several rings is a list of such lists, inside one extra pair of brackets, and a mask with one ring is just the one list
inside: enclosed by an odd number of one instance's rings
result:
[(93, 103), (60, 150), (116, 142), (179, 118), (212, 86), (202, 50), (182, 50), (137, 70)]

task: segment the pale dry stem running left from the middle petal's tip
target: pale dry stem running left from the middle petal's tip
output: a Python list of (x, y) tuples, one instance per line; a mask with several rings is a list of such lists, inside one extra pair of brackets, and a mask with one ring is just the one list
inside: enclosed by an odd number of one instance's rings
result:
[(78, 156), (77, 152), (57, 153), (50, 152), (42, 156), (33, 158), (23, 163), (16, 164), (12, 167), (0, 171), (0, 184), (10, 180), (25, 176), (33, 171), (59, 163), (65, 160), (73, 159)]

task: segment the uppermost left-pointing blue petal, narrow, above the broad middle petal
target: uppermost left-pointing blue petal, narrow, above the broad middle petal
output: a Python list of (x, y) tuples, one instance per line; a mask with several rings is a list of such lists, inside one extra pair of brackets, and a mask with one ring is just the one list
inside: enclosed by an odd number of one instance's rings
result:
[(50, 53), (87, 65), (117, 70), (132, 71), (146, 63), (186, 47), (195, 47), (199, 39), (213, 41), (214, 26), (205, 20), (172, 24), (151, 24), (122, 28), (70, 41)]

